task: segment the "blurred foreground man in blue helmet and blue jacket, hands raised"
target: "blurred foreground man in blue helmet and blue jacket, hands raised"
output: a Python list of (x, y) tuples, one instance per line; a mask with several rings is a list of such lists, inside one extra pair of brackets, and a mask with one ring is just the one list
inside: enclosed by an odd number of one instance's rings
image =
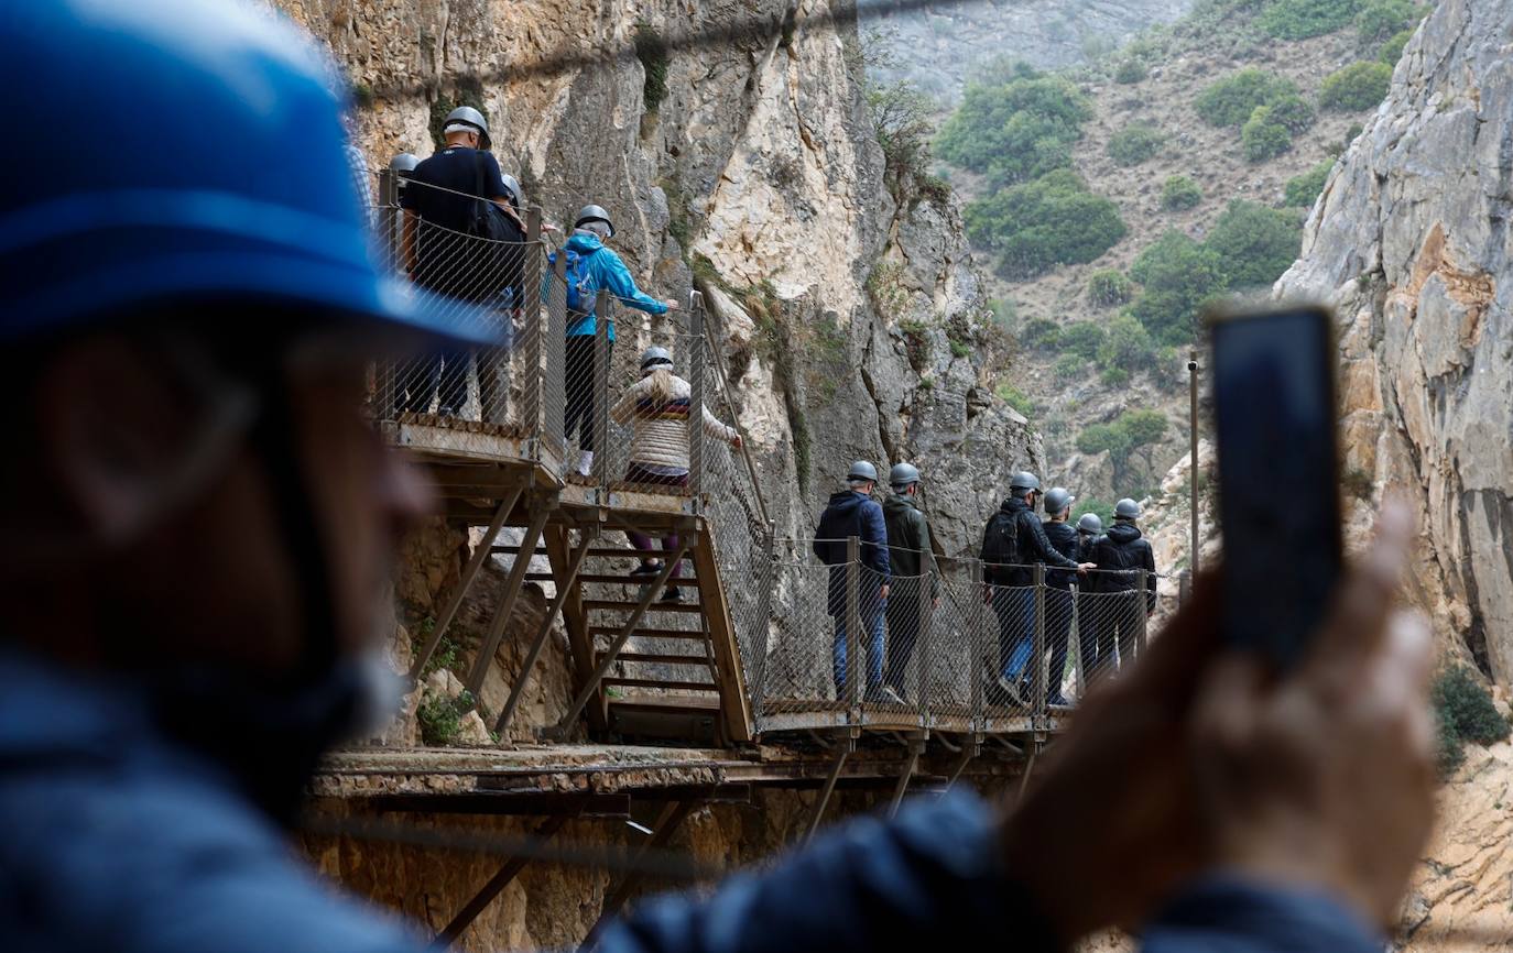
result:
[[(419, 953), (287, 823), (321, 752), (386, 711), (386, 575), (428, 510), (363, 414), (366, 363), (487, 337), (375, 271), (292, 27), (48, 0), (0, 17), (0, 48), (18, 127), (86, 89), (97, 133), (0, 182), (0, 418), (26, 448), (0, 460), (3, 945)], [(113, 160), (169, 141), (176, 162)], [(1392, 608), (1410, 535), (1387, 508), (1288, 673), (1223, 647), (1200, 579), (1012, 811), (837, 826), (598, 948), (1052, 951), (1120, 924), (1150, 953), (1380, 950), (1433, 815), (1430, 641)]]

